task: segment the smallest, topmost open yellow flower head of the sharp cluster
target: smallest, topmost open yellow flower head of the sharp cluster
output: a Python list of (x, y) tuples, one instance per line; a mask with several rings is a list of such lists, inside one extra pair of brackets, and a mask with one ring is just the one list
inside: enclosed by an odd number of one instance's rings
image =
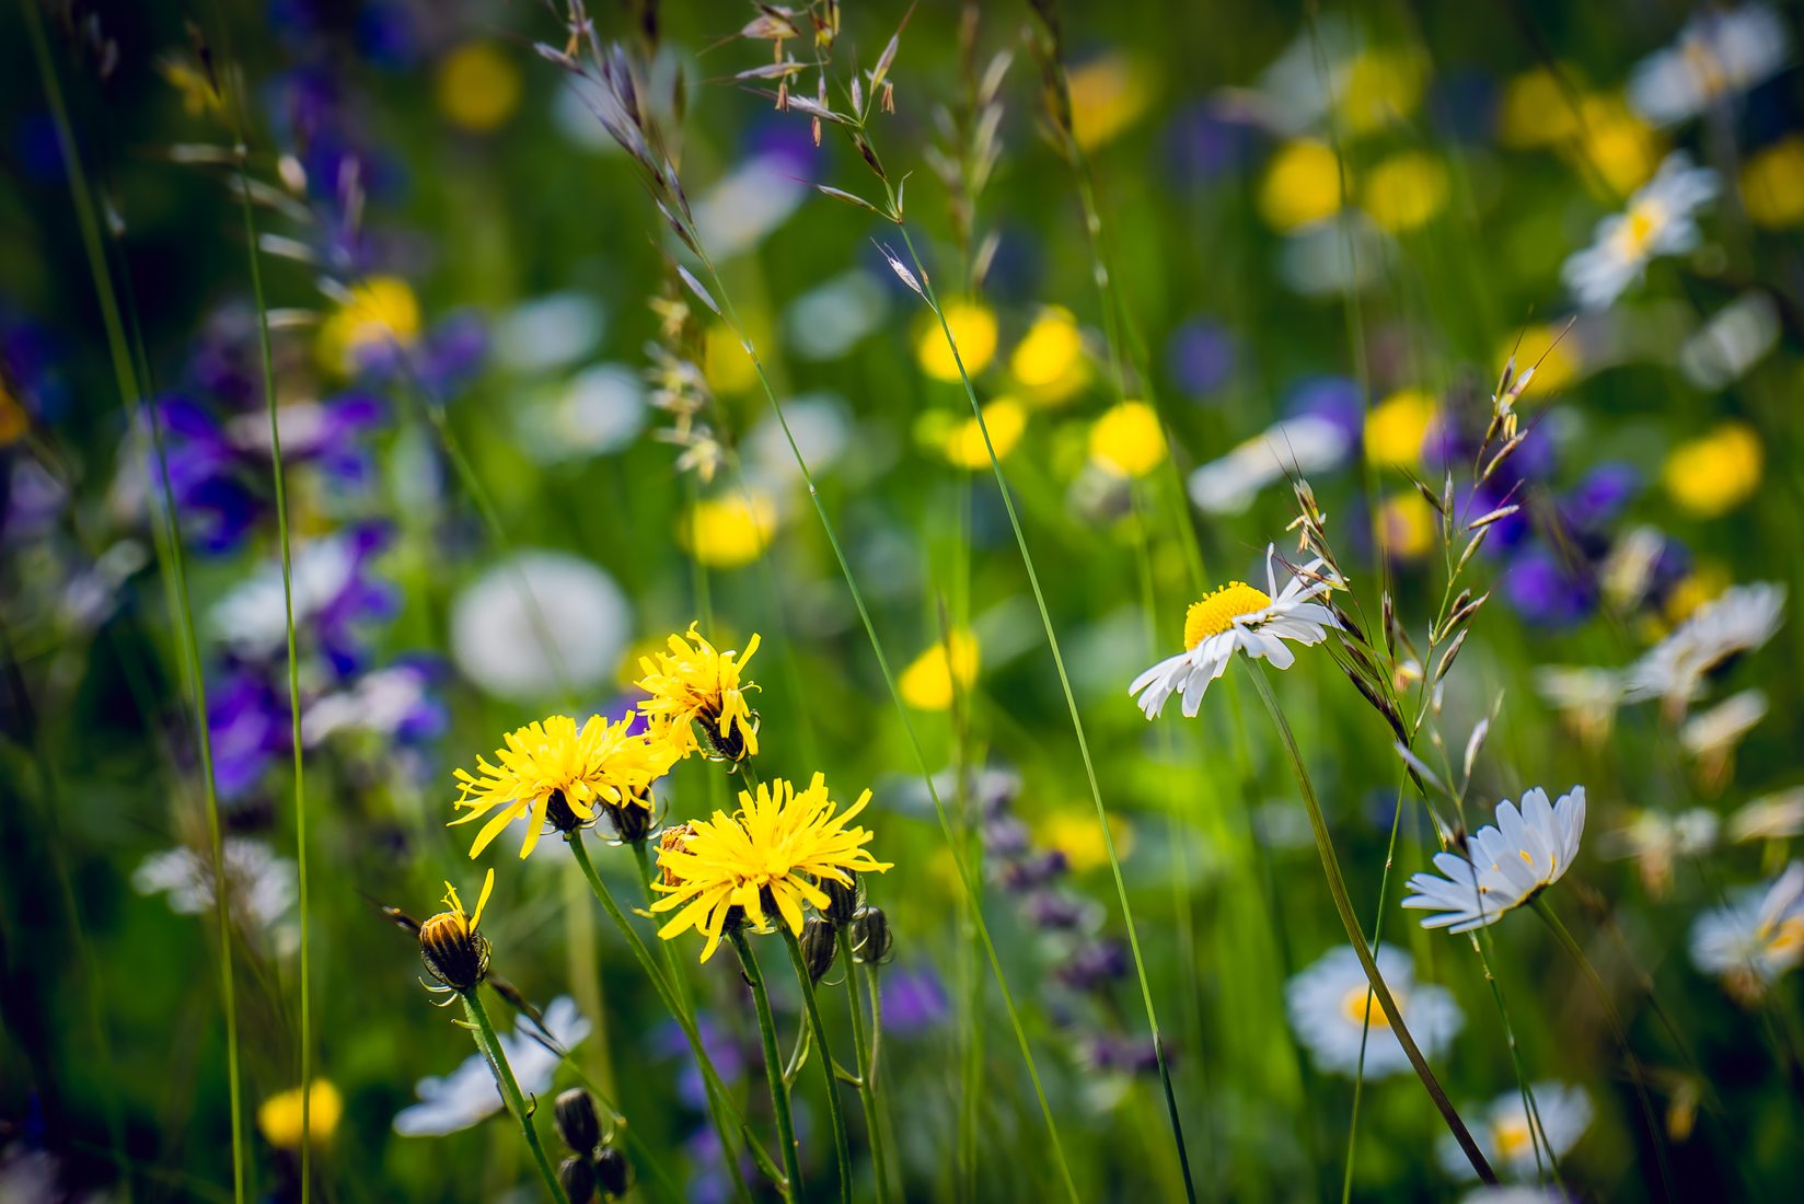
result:
[(678, 756), (700, 751), (695, 724), (702, 726), (713, 756), (732, 762), (758, 756), (758, 713), (745, 702), (745, 691), (758, 684), (741, 681), (758, 652), (758, 635), (745, 641), (745, 652), (716, 652), (695, 626), (689, 625), (687, 639), (671, 635), (669, 652), (639, 657), (644, 677), (633, 684), (651, 695), (639, 713), (651, 736)]

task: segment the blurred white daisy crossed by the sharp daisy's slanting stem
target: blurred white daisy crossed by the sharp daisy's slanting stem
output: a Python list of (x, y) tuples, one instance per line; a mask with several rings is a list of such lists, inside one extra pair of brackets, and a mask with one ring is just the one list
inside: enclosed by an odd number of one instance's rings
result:
[[(1396, 946), (1380, 944), (1375, 959), (1411, 1036), (1416, 1038), (1423, 1056), (1434, 1058), (1465, 1023), (1459, 1005), (1445, 987), (1418, 984), (1409, 955)], [(1371, 996), (1371, 984), (1358, 964), (1358, 955), (1348, 946), (1333, 948), (1313, 966), (1297, 971), (1284, 987), (1284, 1002), (1290, 1007), (1290, 1027), (1295, 1029), (1297, 1040), (1308, 1045), (1310, 1056), (1322, 1070), (1357, 1074), (1362, 1034), (1366, 1078), (1384, 1078), (1409, 1069), (1404, 1045), (1391, 1031), (1389, 1016)]]

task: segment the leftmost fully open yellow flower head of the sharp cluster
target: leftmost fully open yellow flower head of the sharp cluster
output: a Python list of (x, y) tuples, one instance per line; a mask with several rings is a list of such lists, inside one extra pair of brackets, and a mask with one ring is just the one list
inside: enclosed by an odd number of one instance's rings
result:
[(570, 830), (592, 823), (603, 807), (649, 809), (651, 783), (669, 773), (682, 749), (657, 729), (633, 735), (630, 727), (630, 722), (610, 722), (601, 715), (590, 715), (577, 727), (568, 715), (552, 715), (507, 733), (507, 747), (494, 755), (500, 764), (476, 758), (474, 774), (458, 769), (462, 794), (455, 805), (469, 814), (451, 823), (489, 816), (469, 856), (487, 848), (520, 816), (532, 820), (520, 848), (525, 857), (539, 843), (547, 818), (559, 830)]

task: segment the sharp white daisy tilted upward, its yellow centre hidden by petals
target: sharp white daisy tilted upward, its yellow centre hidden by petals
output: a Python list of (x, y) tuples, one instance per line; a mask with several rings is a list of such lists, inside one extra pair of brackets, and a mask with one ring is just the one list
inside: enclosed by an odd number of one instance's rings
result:
[(1405, 908), (1436, 912), (1423, 928), (1472, 931), (1496, 924), (1510, 908), (1528, 903), (1544, 886), (1560, 881), (1578, 856), (1584, 836), (1584, 787), (1575, 785), (1559, 803), (1548, 803), (1541, 787), (1523, 792), (1523, 809), (1497, 803), (1497, 825), (1485, 825), (1467, 839), (1472, 859), (1454, 852), (1434, 854), (1434, 874), (1413, 874)]

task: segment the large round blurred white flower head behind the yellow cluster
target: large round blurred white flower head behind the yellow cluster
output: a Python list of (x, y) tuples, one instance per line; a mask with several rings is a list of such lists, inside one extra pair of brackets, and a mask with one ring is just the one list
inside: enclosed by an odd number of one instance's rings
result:
[(489, 693), (532, 702), (606, 681), (631, 630), (626, 596), (606, 572), (568, 552), (525, 551), (456, 596), (451, 657)]

